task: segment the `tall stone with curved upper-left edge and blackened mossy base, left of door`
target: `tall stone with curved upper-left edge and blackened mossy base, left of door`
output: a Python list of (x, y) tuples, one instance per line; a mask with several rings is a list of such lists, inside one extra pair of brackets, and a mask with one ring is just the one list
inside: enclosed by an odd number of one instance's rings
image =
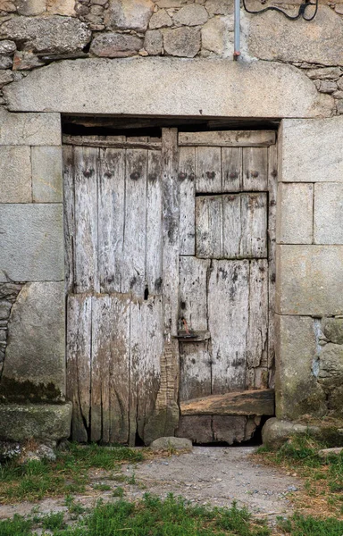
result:
[(62, 282), (27, 283), (13, 304), (0, 393), (10, 401), (60, 400), (65, 393)]

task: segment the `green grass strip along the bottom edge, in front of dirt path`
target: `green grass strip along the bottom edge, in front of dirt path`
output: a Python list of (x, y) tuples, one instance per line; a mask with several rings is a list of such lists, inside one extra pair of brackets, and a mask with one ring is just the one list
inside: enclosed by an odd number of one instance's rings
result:
[[(12, 523), (12, 524), (11, 524)], [(38, 526), (18, 516), (0, 522), (0, 536), (29, 536)], [(6, 528), (4, 528), (6, 527)], [(13, 530), (12, 528), (13, 527)], [(12, 532), (11, 532), (12, 530)], [(205, 508), (190, 506), (170, 495), (162, 500), (146, 494), (142, 501), (119, 499), (99, 504), (84, 519), (67, 528), (50, 526), (54, 536), (269, 536), (262, 522), (254, 522), (246, 508)], [(4, 532), (7, 531), (7, 532)], [(16, 532), (15, 532), (16, 531)], [(32, 532), (33, 531), (33, 532)]]

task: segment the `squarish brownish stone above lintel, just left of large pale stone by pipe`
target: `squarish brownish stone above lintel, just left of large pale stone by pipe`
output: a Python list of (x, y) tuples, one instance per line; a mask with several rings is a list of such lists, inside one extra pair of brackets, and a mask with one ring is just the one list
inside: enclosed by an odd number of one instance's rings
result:
[(194, 58), (200, 50), (200, 30), (186, 26), (163, 31), (166, 54)]

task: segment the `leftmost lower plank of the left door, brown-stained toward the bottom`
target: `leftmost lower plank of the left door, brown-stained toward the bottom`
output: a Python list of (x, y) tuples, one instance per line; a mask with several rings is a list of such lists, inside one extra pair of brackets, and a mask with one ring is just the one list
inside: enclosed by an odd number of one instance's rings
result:
[(67, 303), (67, 398), (72, 402), (71, 437), (87, 442), (91, 389), (91, 297), (68, 297)]

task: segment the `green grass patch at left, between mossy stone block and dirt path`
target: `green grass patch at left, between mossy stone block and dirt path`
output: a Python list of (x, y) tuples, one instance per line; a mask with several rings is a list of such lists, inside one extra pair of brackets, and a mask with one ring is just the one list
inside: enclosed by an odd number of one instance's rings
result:
[(18, 465), (15, 460), (0, 466), (0, 500), (14, 502), (82, 493), (92, 468), (118, 471), (124, 461), (137, 463), (143, 454), (131, 448), (105, 448), (96, 444), (82, 447), (71, 443), (57, 454), (55, 462), (30, 461)]

